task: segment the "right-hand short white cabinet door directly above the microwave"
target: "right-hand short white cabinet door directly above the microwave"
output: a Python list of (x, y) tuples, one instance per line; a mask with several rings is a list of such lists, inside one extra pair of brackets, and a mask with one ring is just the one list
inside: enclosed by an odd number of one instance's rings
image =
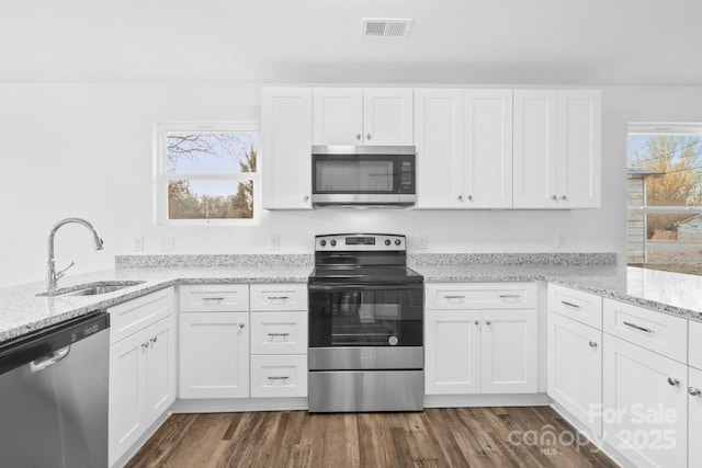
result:
[(363, 138), (365, 145), (414, 145), (411, 88), (363, 90)]

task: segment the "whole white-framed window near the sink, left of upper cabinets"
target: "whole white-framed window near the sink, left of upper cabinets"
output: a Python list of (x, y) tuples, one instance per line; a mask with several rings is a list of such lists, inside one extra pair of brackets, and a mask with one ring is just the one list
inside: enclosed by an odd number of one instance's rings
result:
[(158, 124), (159, 225), (258, 222), (258, 124)]

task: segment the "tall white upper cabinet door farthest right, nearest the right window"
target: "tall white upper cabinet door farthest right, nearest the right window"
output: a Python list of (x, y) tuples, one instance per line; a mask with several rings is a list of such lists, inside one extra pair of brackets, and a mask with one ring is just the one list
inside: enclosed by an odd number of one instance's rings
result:
[(601, 96), (596, 90), (558, 91), (558, 206), (601, 205)]

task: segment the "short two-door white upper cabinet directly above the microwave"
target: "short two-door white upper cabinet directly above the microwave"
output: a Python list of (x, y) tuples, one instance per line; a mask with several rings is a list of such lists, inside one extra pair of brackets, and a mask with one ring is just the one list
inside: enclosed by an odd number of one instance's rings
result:
[(411, 88), (315, 88), (315, 145), (412, 145)]

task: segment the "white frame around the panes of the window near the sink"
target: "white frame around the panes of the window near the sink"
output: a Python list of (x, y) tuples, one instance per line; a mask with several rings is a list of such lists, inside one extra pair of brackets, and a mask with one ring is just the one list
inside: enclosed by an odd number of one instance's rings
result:
[[(256, 134), (257, 171), (238, 173), (179, 172), (177, 176), (168, 172), (167, 140), (169, 133), (227, 133), (245, 132)], [(154, 125), (154, 224), (156, 226), (257, 226), (261, 218), (261, 145), (258, 121), (228, 122), (166, 122)], [(169, 219), (168, 183), (171, 180), (231, 181), (234, 183), (251, 181), (253, 184), (253, 213), (251, 218), (239, 219)]]

